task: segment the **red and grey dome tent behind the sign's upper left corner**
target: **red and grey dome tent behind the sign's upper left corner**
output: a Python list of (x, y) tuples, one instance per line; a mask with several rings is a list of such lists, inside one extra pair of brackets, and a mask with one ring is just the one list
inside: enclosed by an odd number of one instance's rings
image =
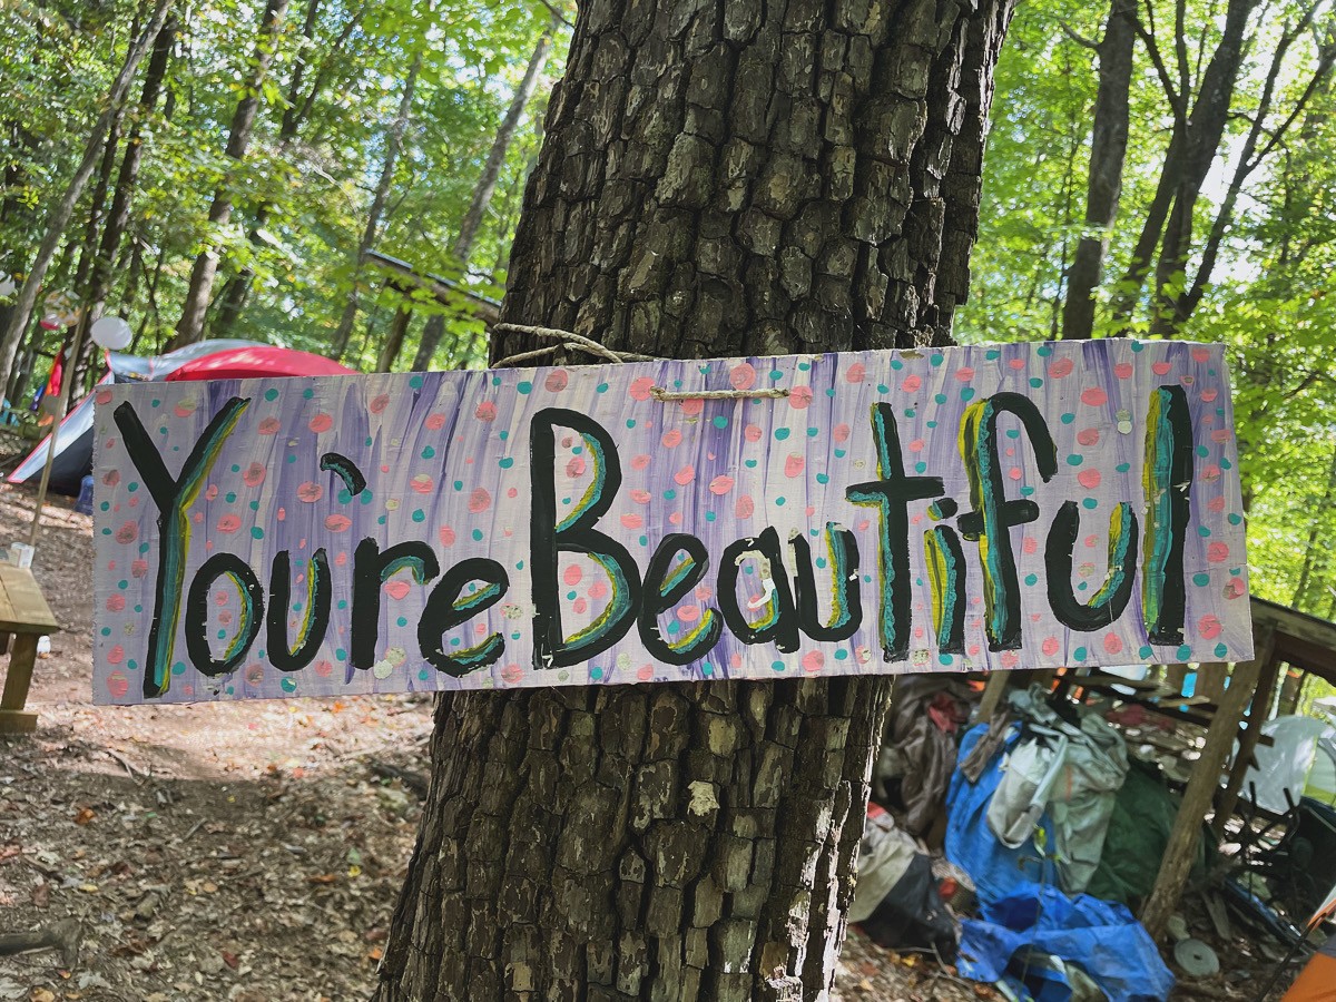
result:
[[(354, 370), (323, 355), (297, 351), (239, 338), (200, 341), (164, 355), (140, 358), (120, 351), (107, 353), (108, 373), (98, 383), (146, 382), (158, 379), (244, 379), (257, 375), (342, 375)], [(60, 422), (56, 458), (51, 466), (49, 489), (71, 497), (92, 472), (92, 402), (88, 394)], [(20, 462), (8, 480), (25, 484), (41, 477), (51, 437)]]

